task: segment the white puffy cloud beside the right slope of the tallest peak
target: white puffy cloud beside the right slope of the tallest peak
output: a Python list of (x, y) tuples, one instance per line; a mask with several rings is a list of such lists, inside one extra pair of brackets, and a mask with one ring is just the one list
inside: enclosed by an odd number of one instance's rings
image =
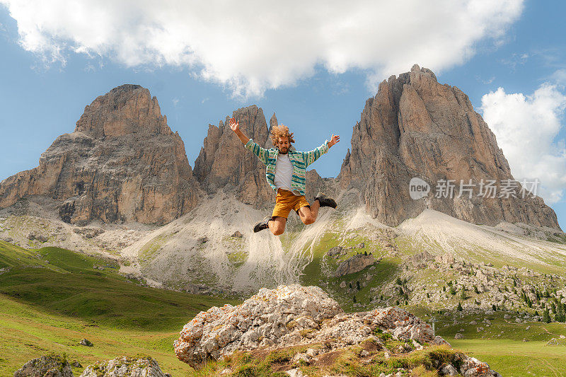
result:
[(545, 202), (559, 202), (566, 190), (566, 146), (560, 132), (566, 95), (543, 83), (532, 95), (505, 93), (503, 88), (482, 97), (483, 118), (492, 129), (516, 180), (541, 181)]

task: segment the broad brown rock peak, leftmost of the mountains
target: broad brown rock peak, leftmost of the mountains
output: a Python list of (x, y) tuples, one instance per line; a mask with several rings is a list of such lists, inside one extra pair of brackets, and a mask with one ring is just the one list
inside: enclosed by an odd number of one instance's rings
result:
[(166, 224), (195, 207), (197, 186), (157, 99), (123, 85), (86, 106), (74, 132), (58, 137), (37, 168), (2, 181), (0, 208), (46, 195), (61, 202), (70, 223)]

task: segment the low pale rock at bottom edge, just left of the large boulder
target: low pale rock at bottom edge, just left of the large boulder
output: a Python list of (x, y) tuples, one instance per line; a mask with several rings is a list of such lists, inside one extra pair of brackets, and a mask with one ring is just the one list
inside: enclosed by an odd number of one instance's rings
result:
[(157, 361), (151, 357), (117, 357), (108, 361), (98, 361), (89, 365), (80, 377), (117, 377), (117, 376), (144, 376), (144, 377), (171, 377), (163, 373)]

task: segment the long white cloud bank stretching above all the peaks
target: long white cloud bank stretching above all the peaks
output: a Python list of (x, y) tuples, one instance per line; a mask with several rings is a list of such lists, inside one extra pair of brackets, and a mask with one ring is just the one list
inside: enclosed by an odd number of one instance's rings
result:
[(21, 45), (46, 64), (71, 53), (126, 66), (189, 66), (235, 95), (262, 95), (313, 75), (362, 69), (374, 88), (418, 63), (466, 62), (500, 40), (523, 0), (0, 0)]

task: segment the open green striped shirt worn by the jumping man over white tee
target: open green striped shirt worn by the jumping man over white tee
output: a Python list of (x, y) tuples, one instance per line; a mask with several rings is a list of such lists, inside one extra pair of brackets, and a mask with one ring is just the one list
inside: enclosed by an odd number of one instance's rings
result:
[[(250, 139), (244, 146), (246, 149), (258, 156), (262, 163), (265, 163), (265, 178), (267, 178), (267, 183), (270, 184), (271, 188), (277, 192), (277, 187), (275, 187), (275, 163), (277, 163), (277, 155), (279, 155), (279, 149), (271, 148), (265, 149), (255, 143)], [(299, 152), (289, 149), (289, 160), (291, 165), (293, 165), (293, 175), (291, 176), (291, 190), (297, 190), (299, 194), (305, 195), (305, 182), (306, 182), (306, 167), (311, 165), (314, 161), (318, 160), (320, 156), (328, 152), (328, 140), (326, 140), (323, 145), (316, 149), (308, 152)]]

